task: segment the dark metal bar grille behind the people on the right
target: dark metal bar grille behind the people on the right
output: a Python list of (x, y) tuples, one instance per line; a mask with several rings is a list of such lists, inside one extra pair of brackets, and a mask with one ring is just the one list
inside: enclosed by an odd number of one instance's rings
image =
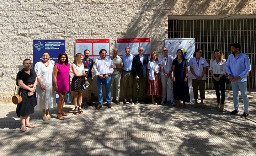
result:
[[(256, 19), (169, 20), (168, 35), (169, 38), (195, 38), (196, 48), (202, 49), (202, 57), (208, 63), (215, 49), (222, 50), (227, 59), (231, 54), (230, 44), (240, 43), (241, 52), (251, 61), (247, 88), (256, 88)], [(206, 89), (214, 89), (209, 71), (206, 76)]]

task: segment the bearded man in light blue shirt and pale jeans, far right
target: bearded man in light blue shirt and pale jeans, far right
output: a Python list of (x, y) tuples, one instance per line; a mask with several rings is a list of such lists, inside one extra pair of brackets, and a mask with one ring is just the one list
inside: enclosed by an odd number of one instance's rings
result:
[(226, 63), (226, 72), (229, 75), (233, 90), (233, 102), (235, 110), (230, 112), (231, 115), (237, 114), (238, 110), (238, 90), (240, 89), (244, 103), (244, 114), (241, 118), (247, 118), (249, 115), (249, 99), (247, 96), (247, 75), (251, 71), (251, 64), (248, 55), (240, 52), (241, 45), (233, 43), (231, 46), (232, 54), (229, 55)]

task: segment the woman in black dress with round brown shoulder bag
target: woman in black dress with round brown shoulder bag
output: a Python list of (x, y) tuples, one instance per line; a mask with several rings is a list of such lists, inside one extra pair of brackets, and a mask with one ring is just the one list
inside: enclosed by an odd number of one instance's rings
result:
[(36, 99), (36, 85), (37, 76), (36, 71), (30, 69), (31, 60), (25, 59), (23, 61), (24, 68), (18, 72), (16, 77), (16, 85), (20, 86), (22, 102), (17, 105), (16, 113), (21, 119), (21, 131), (27, 131), (27, 127), (34, 128), (33, 124), (29, 123), (30, 114), (34, 113), (34, 107), (37, 104)]

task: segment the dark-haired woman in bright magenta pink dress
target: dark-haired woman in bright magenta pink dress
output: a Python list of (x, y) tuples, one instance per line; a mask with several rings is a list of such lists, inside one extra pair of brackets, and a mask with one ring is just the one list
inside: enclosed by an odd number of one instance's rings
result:
[(57, 103), (58, 104), (57, 118), (60, 120), (64, 120), (65, 118), (63, 116), (68, 115), (63, 111), (64, 96), (65, 96), (65, 92), (69, 91), (69, 86), (70, 86), (69, 63), (68, 63), (68, 55), (66, 53), (60, 53), (58, 56), (57, 63), (54, 65), (53, 83), (54, 83), (54, 90), (58, 92), (58, 95), (59, 95), (59, 100)]

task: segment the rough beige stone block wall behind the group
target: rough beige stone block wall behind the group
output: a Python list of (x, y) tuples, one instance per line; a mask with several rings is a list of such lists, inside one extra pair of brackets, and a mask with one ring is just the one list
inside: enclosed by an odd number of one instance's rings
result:
[(11, 102), (22, 60), (33, 58), (33, 39), (65, 39), (70, 61), (76, 38), (110, 38), (112, 49), (116, 38), (145, 37), (151, 38), (151, 50), (160, 52), (168, 16), (255, 15), (255, 10), (256, 0), (1, 0), (0, 102)]

